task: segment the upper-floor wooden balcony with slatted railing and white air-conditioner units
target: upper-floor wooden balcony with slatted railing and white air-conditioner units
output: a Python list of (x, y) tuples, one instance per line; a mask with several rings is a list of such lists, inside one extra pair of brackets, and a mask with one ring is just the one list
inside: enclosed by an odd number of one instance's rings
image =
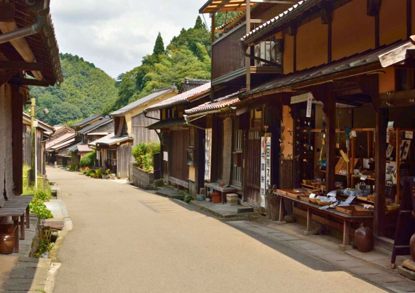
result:
[[(251, 27), (254, 29), (257, 25), (264, 22), (259, 19), (251, 20)], [(235, 27), (227, 34), (221, 36), (212, 44), (212, 85), (229, 85), (229, 86), (244, 86), (246, 82), (246, 57), (242, 51), (242, 47), (239, 44), (242, 36), (246, 32), (246, 22)], [(265, 51), (271, 50), (271, 44), (275, 41), (265, 40), (263, 46)], [(270, 54), (266, 52), (255, 51), (252, 47), (252, 54), (258, 55), (261, 58), (270, 60)], [(276, 75), (282, 73), (282, 69), (279, 66), (271, 66), (264, 62), (259, 62), (251, 59), (251, 83), (255, 83), (256, 80), (264, 81), (268, 78), (276, 77)]]

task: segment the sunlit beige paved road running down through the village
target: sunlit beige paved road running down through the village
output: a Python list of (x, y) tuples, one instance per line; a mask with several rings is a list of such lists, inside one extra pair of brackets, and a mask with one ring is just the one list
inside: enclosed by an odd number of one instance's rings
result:
[(55, 293), (384, 292), (307, 254), (127, 184), (48, 169), (74, 224)]

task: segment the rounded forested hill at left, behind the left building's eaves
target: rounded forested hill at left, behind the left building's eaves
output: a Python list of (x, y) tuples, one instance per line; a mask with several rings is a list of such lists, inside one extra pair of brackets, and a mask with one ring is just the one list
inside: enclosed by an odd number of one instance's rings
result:
[(105, 105), (117, 99), (115, 80), (93, 63), (61, 53), (61, 65), (64, 81), (60, 86), (31, 88), (37, 106), (50, 111), (48, 115), (39, 111), (39, 119), (51, 125), (76, 121), (103, 113)]

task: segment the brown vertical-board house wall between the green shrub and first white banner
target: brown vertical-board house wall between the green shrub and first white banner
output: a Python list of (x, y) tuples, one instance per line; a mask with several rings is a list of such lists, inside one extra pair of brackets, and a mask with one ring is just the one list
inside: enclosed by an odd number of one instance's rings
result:
[(189, 131), (171, 131), (171, 150), (168, 160), (170, 161), (170, 177), (188, 182), (189, 168), (187, 165), (187, 148), (189, 144)]

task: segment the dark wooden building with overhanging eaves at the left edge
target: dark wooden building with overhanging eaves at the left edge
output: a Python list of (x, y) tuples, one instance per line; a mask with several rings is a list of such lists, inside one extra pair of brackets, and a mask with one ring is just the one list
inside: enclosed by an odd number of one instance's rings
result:
[(0, 207), (22, 193), (22, 111), (28, 86), (63, 81), (48, 10), (49, 1), (0, 3)]

